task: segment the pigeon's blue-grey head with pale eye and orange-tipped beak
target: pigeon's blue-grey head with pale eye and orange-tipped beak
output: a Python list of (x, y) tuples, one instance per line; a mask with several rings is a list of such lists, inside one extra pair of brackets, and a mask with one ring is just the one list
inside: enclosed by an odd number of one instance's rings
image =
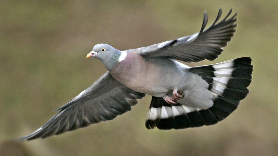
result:
[(95, 57), (99, 59), (108, 70), (112, 70), (113, 66), (118, 63), (121, 51), (115, 49), (108, 44), (97, 44), (93, 47), (87, 58)]

